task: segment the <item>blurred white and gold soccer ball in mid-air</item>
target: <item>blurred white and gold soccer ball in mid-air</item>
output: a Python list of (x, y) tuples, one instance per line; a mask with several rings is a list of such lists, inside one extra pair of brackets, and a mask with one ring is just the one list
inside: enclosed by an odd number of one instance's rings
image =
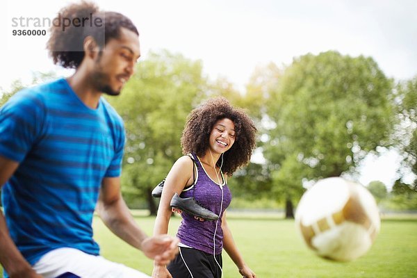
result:
[(332, 177), (319, 180), (302, 195), (295, 224), (318, 256), (352, 261), (373, 245), (381, 220), (375, 199), (365, 187)]

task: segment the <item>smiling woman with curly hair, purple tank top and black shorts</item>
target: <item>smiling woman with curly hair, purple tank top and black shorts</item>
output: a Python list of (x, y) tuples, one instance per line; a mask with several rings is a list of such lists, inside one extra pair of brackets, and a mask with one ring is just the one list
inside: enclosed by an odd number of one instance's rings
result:
[(181, 198), (195, 197), (199, 206), (218, 218), (202, 221), (182, 213), (177, 232), (179, 254), (166, 267), (155, 264), (152, 277), (220, 278), (223, 248), (240, 275), (256, 277), (238, 251), (226, 220), (226, 208), (231, 202), (227, 176), (249, 163), (255, 133), (250, 117), (222, 97), (206, 101), (188, 115), (181, 138), (183, 154), (188, 155), (181, 156), (167, 174), (154, 234), (167, 233), (172, 215), (170, 203), (176, 193)]

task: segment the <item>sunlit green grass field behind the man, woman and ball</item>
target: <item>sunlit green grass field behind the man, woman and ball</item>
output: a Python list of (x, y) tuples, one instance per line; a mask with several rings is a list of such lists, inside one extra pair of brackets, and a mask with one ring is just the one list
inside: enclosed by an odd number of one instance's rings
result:
[[(137, 217), (148, 234), (154, 218)], [(170, 222), (174, 234), (180, 218)], [(363, 257), (350, 263), (334, 263), (315, 256), (295, 231), (293, 220), (273, 217), (231, 215), (229, 225), (240, 252), (260, 278), (275, 277), (417, 277), (417, 219), (395, 218), (382, 221), (375, 244)], [(95, 219), (95, 238), (106, 258), (150, 274), (152, 261), (119, 240)], [(240, 277), (234, 263), (224, 253), (224, 278)]]

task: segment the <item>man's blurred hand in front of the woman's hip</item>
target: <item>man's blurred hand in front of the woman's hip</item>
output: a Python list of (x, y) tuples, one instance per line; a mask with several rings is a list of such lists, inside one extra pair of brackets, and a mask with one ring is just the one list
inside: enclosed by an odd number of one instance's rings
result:
[(141, 250), (156, 265), (167, 265), (177, 255), (178, 243), (179, 238), (172, 236), (152, 236), (142, 241)]

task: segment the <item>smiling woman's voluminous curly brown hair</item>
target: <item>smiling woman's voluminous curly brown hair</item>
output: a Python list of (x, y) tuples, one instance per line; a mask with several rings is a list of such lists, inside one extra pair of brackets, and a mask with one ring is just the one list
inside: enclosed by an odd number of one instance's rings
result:
[[(204, 156), (208, 149), (210, 133), (215, 122), (227, 118), (235, 125), (235, 142), (223, 155), (222, 171), (231, 176), (238, 167), (247, 165), (256, 147), (256, 127), (240, 108), (234, 108), (224, 97), (209, 99), (188, 115), (181, 137), (183, 154), (194, 152)], [(219, 164), (219, 161), (218, 161)]]

